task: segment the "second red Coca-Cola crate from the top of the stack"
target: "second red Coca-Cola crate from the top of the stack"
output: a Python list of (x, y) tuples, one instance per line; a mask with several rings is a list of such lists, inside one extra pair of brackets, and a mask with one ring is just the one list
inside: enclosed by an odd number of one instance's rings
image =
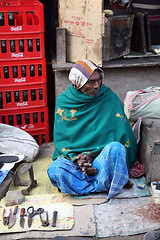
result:
[(44, 33), (0, 35), (0, 61), (45, 58)]

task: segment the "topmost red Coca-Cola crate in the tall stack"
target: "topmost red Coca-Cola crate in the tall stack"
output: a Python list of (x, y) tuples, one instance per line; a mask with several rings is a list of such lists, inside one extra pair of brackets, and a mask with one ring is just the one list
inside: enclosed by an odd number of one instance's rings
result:
[(0, 0), (0, 34), (44, 32), (44, 8), (37, 0)]

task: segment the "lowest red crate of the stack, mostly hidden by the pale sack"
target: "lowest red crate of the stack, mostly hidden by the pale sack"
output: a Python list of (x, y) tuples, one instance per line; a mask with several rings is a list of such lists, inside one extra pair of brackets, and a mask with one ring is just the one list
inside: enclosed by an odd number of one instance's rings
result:
[(38, 145), (41, 145), (45, 142), (49, 142), (49, 129), (44, 128), (40, 130), (29, 130), (27, 131), (38, 143)]

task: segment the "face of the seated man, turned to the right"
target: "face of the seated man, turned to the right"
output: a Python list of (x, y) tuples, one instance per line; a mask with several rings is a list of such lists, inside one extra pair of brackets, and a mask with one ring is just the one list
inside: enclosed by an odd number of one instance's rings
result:
[(88, 79), (88, 81), (81, 87), (79, 90), (91, 97), (97, 96), (99, 93), (100, 87), (102, 85), (102, 75), (101, 72), (95, 70), (92, 76)]

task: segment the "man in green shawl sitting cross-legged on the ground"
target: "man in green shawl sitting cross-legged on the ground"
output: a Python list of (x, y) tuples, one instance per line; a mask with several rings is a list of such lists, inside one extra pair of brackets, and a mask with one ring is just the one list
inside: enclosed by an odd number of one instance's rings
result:
[(108, 192), (129, 182), (137, 144), (118, 96), (102, 84), (103, 71), (89, 60), (70, 71), (71, 86), (56, 100), (53, 186), (70, 195)]

